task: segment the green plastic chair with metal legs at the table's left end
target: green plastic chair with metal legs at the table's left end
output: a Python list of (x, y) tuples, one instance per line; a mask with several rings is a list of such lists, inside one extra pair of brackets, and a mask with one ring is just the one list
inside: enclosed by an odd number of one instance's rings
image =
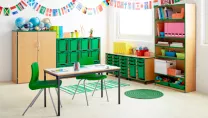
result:
[[(51, 91), (50, 88), (56, 88), (56, 92), (58, 94), (57, 88), (58, 88), (58, 84), (56, 80), (47, 80), (47, 81), (39, 81), (39, 66), (37, 62), (34, 62), (31, 65), (31, 70), (32, 70), (32, 76), (31, 76), (31, 80), (29, 83), (29, 88), (31, 90), (40, 90), (38, 92), (38, 94), (35, 96), (35, 98), (32, 100), (32, 102), (29, 104), (29, 106), (27, 107), (27, 109), (24, 111), (24, 113), (22, 114), (23, 116), (25, 115), (25, 113), (27, 112), (27, 110), (33, 106), (33, 104), (35, 103), (35, 101), (38, 99), (38, 97), (40, 96), (41, 92), (45, 89), (48, 88), (49, 94), (50, 94), (50, 98), (54, 107), (54, 110), (57, 114), (54, 102), (53, 102), (53, 98), (51, 95)], [(60, 86), (62, 84), (62, 81), (60, 81)], [(61, 105), (62, 107), (62, 105)]]

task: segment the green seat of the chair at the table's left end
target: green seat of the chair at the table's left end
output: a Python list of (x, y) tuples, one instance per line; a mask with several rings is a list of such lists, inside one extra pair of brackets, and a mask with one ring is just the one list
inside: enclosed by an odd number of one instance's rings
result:
[[(60, 86), (62, 81), (60, 80)], [(44, 89), (44, 88), (58, 88), (57, 80), (37, 81), (33, 84), (29, 84), (32, 90)]]

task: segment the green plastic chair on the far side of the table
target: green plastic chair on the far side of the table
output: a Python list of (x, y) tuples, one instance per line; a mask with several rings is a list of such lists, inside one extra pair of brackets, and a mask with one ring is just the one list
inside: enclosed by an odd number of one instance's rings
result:
[[(81, 58), (81, 59), (79, 60), (79, 63), (80, 63), (80, 66), (81, 66), (81, 68), (82, 68), (82, 66), (94, 64), (94, 61), (93, 61), (93, 58), (92, 58), (92, 57), (86, 57), (86, 58)], [(105, 79), (106, 79), (106, 78), (107, 78), (106, 75), (98, 75), (98, 74), (95, 74), (95, 73), (77, 76), (76, 79), (79, 80), (79, 82), (78, 82), (77, 88), (76, 88), (76, 90), (75, 90), (75, 93), (74, 93), (74, 95), (73, 95), (73, 97), (72, 97), (72, 100), (74, 99), (74, 97), (75, 97), (75, 95), (76, 95), (76, 92), (77, 92), (77, 89), (78, 89), (78, 87), (79, 87), (80, 82), (81, 82), (82, 80), (84, 80), (84, 81), (83, 81), (83, 84), (84, 84), (84, 89), (85, 89), (85, 97), (86, 97), (86, 102), (87, 102), (87, 106), (88, 106), (89, 104), (88, 104), (88, 99), (87, 99), (87, 92), (86, 92), (85, 81), (86, 81), (86, 80), (88, 80), (88, 81), (95, 81), (95, 80), (98, 80), (98, 82), (97, 82), (97, 84), (96, 84), (96, 86), (95, 86), (95, 89), (94, 89), (94, 91), (93, 91), (93, 93), (92, 93), (92, 96), (93, 96), (93, 95), (94, 95), (94, 92), (95, 92), (95, 90), (96, 90), (96, 88), (97, 88), (98, 83), (100, 82), (100, 80), (103, 80), (103, 81), (104, 81), (104, 86), (105, 86), (105, 91), (106, 91), (106, 96), (107, 96), (107, 101), (109, 101), (109, 100), (108, 100), (108, 92), (107, 92), (106, 84), (105, 84)]]

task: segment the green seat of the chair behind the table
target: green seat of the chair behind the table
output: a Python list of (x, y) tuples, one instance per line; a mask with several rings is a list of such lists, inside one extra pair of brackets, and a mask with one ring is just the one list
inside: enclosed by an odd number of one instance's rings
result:
[(86, 79), (86, 80), (102, 80), (105, 78), (107, 78), (106, 75), (98, 75), (98, 74), (86, 74), (76, 77), (76, 79)]

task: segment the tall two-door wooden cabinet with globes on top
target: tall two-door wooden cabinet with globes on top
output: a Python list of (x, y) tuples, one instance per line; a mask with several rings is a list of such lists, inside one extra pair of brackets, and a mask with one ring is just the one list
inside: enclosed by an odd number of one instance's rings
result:
[[(31, 79), (31, 64), (39, 63), (39, 78), (43, 80), (44, 68), (56, 67), (55, 32), (12, 32), (12, 80), (28, 83)], [(47, 77), (54, 79), (53, 77)]]

